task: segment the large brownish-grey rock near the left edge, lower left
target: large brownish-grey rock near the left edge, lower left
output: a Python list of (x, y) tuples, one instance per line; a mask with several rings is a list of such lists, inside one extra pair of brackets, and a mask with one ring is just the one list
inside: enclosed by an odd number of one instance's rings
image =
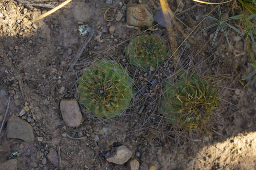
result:
[(12, 116), (8, 120), (7, 137), (22, 139), (28, 143), (32, 143), (35, 140), (33, 128), (29, 123), (17, 116)]

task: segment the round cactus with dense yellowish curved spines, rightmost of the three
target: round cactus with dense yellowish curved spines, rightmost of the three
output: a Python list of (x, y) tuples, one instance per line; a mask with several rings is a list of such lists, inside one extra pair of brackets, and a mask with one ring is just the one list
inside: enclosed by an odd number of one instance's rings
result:
[(181, 71), (177, 81), (167, 80), (160, 113), (166, 121), (182, 129), (207, 129), (218, 103), (217, 90), (196, 73)]

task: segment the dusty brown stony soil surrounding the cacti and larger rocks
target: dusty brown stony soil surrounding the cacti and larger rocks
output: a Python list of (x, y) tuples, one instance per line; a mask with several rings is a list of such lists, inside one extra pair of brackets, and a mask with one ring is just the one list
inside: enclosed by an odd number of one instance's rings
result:
[[(57, 5), (61, 1), (40, 0), (40, 3)], [(256, 84), (241, 80), (252, 71), (245, 37), (237, 38), (236, 33), (228, 30), (231, 46), (227, 46), (223, 33), (220, 33), (216, 45), (212, 47), (208, 40), (214, 29), (200, 31), (212, 22), (205, 20), (192, 34), (194, 43), (186, 42), (182, 46), (182, 59), (194, 56), (195, 62), (204, 61), (202, 70), (206, 76), (215, 75), (222, 107), (216, 113), (218, 121), (207, 135), (191, 136), (190, 140), (177, 144), (166, 126), (159, 124), (157, 116), (161, 81), (168, 76), (165, 74), (166, 67), (172, 72), (174, 64), (171, 59), (165, 63), (164, 69), (159, 66), (159, 69), (148, 72), (128, 64), (124, 57), (128, 38), (146, 30), (126, 26), (122, 7), (128, 0), (113, 0), (111, 6), (105, 4), (105, 0), (73, 0), (34, 24), (27, 21), (49, 9), (29, 8), (18, 2), (0, 2), (0, 122), (7, 108), (8, 94), (11, 95), (8, 116), (0, 134), (0, 146), (7, 147), (8, 152), (0, 152), (0, 165), (5, 165), (8, 170), (54, 170), (58, 160), (50, 160), (47, 154), (56, 152), (59, 146), (61, 169), (129, 170), (128, 163), (116, 165), (104, 158), (113, 143), (121, 143), (128, 146), (140, 165), (154, 164), (156, 170), (256, 169)], [(136, 0), (133, 2), (137, 3)], [(159, 2), (155, 0), (141, 2), (148, 4), (152, 14), (160, 9)], [(173, 11), (178, 2), (170, 2)], [(182, 26), (186, 34), (212, 9), (210, 5), (194, 5), (196, 3), (191, 0), (182, 0), (177, 10), (177, 13), (184, 11), (177, 17), (188, 26)], [(113, 7), (110, 18), (117, 17), (118, 12), (123, 14), (119, 21), (104, 20), (104, 12), (109, 7)], [(235, 5), (222, 5), (223, 14), (232, 16), (239, 13), (239, 8), (231, 7)], [(217, 17), (216, 14), (212, 15)], [(68, 71), (76, 51), (87, 36), (81, 36), (77, 30), (82, 24), (90, 26), (95, 34), (78, 65)], [(232, 24), (239, 27), (241, 23)], [(114, 26), (115, 30), (103, 33), (104, 27), (110, 26)], [(166, 29), (161, 26), (154, 28), (157, 29), (143, 34), (155, 35), (169, 47)], [(175, 26), (174, 31), (180, 44), (184, 37)], [(172, 52), (169, 48), (168, 55), (171, 56)], [(84, 136), (84, 139), (73, 140), (64, 133), (71, 136), (76, 128), (64, 123), (59, 103), (63, 99), (76, 98), (75, 82), (79, 71), (101, 57), (119, 61), (124, 68), (128, 68), (138, 92), (127, 113), (119, 118), (102, 120), (82, 111), (83, 122), (75, 137)], [(156, 85), (151, 83), (154, 79), (157, 79)], [(8, 120), (12, 115), (18, 116), (24, 106), (28, 106), (29, 110), (21, 119), (27, 120), (29, 116), (33, 119), (30, 120), (36, 137), (33, 143), (7, 138)], [(137, 151), (141, 153), (139, 157), (135, 154)], [(14, 152), (20, 154), (10, 159), (15, 160), (13, 163), (8, 159)], [(142, 166), (140, 169), (144, 170)]]

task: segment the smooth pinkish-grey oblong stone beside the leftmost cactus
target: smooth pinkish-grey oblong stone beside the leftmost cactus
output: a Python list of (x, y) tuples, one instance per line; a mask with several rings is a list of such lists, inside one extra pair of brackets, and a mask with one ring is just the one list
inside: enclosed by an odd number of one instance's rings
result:
[(60, 102), (61, 115), (64, 122), (70, 127), (78, 127), (82, 123), (82, 114), (76, 99)]

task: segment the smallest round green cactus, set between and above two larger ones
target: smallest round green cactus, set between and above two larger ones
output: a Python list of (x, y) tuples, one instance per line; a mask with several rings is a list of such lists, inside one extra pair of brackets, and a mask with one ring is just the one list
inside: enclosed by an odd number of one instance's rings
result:
[(141, 35), (133, 38), (125, 49), (129, 62), (146, 71), (150, 66), (156, 68), (166, 56), (163, 42), (152, 35)]

